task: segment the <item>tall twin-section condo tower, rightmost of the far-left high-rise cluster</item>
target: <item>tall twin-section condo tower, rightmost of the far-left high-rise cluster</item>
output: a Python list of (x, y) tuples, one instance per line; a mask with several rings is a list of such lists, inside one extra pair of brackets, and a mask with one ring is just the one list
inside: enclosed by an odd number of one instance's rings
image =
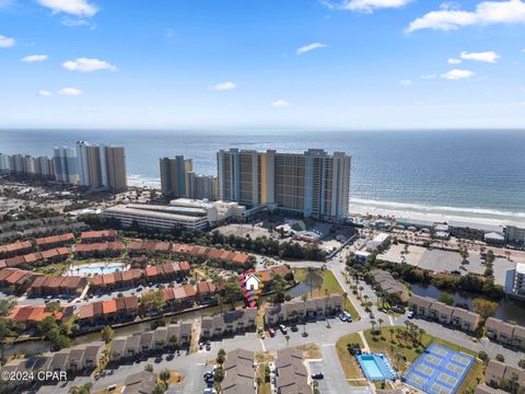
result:
[(77, 142), (79, 184), (90, 188), (126, 188), (126, 153), (122, 147)]

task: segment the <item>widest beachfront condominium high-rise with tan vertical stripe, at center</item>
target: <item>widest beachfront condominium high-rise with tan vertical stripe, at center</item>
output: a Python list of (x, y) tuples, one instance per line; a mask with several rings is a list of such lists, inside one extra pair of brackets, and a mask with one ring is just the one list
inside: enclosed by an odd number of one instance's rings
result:
[(350, 157), (320, 149), (304, 153), (221, 150), (217, 154), (219, 198), (249, 206), (276, 206), (305, 217), (348, 215)]

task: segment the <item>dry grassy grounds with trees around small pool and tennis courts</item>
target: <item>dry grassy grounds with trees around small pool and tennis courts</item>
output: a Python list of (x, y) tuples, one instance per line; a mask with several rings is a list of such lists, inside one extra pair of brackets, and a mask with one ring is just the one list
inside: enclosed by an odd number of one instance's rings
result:
[[(373, 334), (371, 329), (363, 332), (364, 338), (370, 347), (371, 352), (381, 352), (387, 356), (393, 367), (402, 375), (410, 364), (418, 359), (421, 352), (431, 344), (439, 344), (448, 349), (464, 352), (477, 357), (477, 352), (463, 348), (446, 340), (433, 337), (417, 327), (387, 326), (377, 329)], [(345, 375), (350, 385), (363, 385), (366, 383), (364, 375), (359, 367), (355, 356), (349, 347), (357, 345), (364, 347), (363, 341), (358, 333), (346, 335), (336, 344), (337, 355), (341, 363)], [(350, 346), (349, 346), (350, 345)], [(474, 392), (474, 387), (482, 381), (483, 363), (479, 359), (475, 359), (472, 368), (466, 375), (458, 393)]]

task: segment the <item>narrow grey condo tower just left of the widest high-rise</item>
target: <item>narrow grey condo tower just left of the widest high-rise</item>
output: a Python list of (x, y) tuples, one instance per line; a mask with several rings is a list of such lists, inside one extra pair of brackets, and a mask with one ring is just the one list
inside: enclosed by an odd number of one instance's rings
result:
[(164, 196), (191, 197), (187, 179), (187, 174), (194, 170), (191, 159), (184, 159), (184, 155), (162, 158), (160, 169), (161, 190)]

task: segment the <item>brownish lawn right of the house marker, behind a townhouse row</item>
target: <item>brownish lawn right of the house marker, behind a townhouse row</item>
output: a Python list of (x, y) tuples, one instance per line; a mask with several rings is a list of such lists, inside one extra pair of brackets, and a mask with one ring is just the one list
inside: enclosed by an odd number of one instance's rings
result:
[[(308, 268), (295, 268), (294, 279), (296, 282), (306, 282), (315, 287), (312, 291), (312, 297), (326, 297), (327, 294), (345, 294), (347, 293), (334, 273), (329, 269), (310, 269)], [(310, 296), (310, 293), (308, 293)], [(345, 310), (350, 313), (353, 320), (359, 320), (359, 313), (352, 304), (352, 301), (346, 298)]]

